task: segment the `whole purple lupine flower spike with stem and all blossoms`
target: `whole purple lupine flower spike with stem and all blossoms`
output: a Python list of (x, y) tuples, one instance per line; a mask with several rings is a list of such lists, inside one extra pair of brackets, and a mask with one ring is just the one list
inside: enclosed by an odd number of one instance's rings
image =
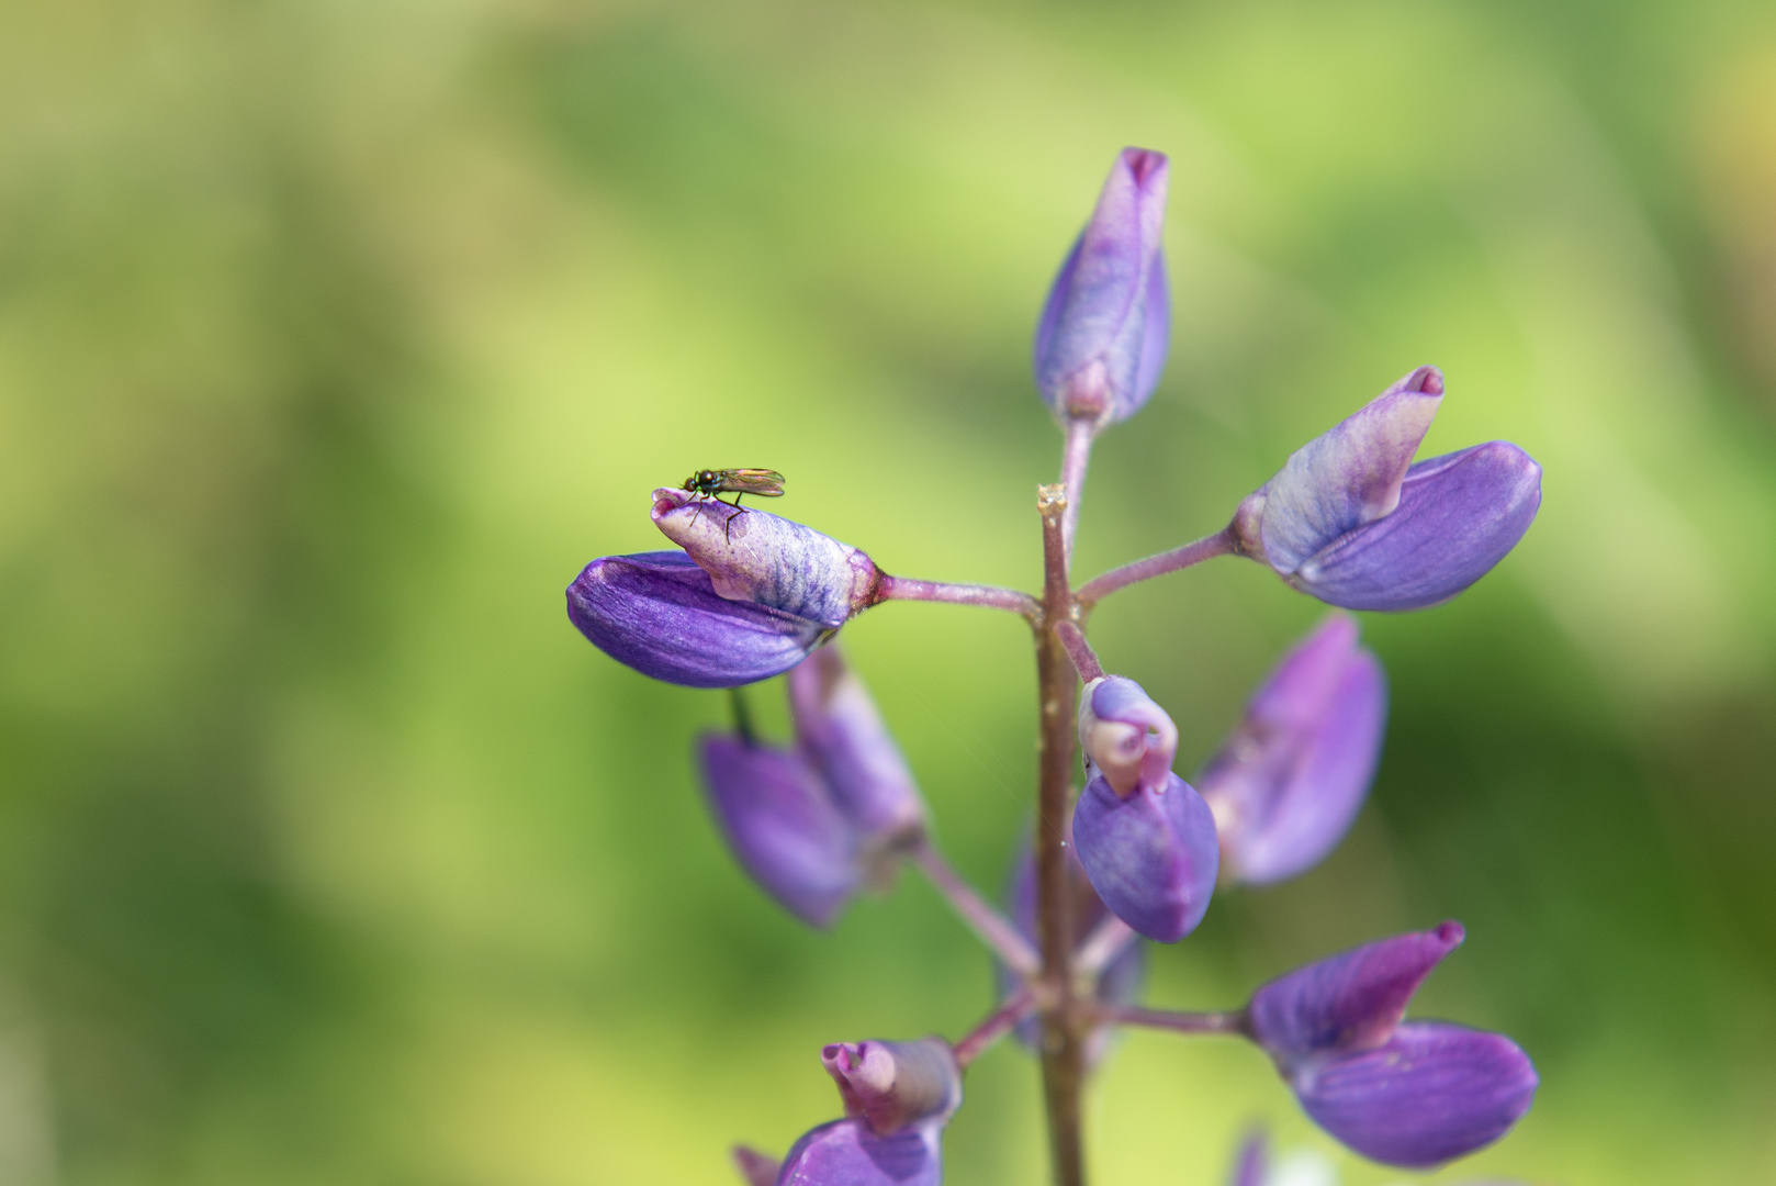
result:
[[(567, 590), (586, 638), (645, 676), (741, 688), (789, 672), (789, 743), (757, 736), (735, 692), (735, 729), (696, 747), (716, 827), (760, 889), (824, 928), (913, 864), (998, 966), (1000, 999), (954, 1042), (824, 1047), (844, 1115), (781, 1159), (739, 1147), (753, 1186), (936, 1184), (966, 1070), (1007, 1033), (1041, 1058), (1060, 1186), (1085, 1181), (1080, 1101), (1115, 1026), (1252, 1042), (1321, 1129), (1394, 1166), (1481, 1149), (1534, 1097), (1534, 1067), (1510, 1038), (1407, 1019), (1419, 983), (1462, 942), (1460, 923), (1328, 955), (1238, 1008), (1137, 1005), (1144, 941), (1185, 939), (1217, 887), (1305, 873), (1350, 830), (1382, 750), (1387, 681), (1357, 621), (1330, 613), (1256, 688), (1192, 784), (1176, 772), (1170, 715), (1092, 651), (1092, 608), (1234, 555), (1337, 610), (1417, 610), (1499, 564), (1542, 496), (1540, 466), (1504, 441), (1414, 461), (1444, 400), (1442, 373), (1419, 366), (1298, 448), (1220, 532), (1074, 587), (1092, 441), (1147, 404), (1165, 363), (1167, 171), (1160, 153), (1117, 158), (1037, 324), (1035, 386), (1064, 434), (1060, 480), (1037, 491), (1039, 594), (892, 576), (810, 526), (673, 487), (654, 491), (652, 517), (677, 548), (593, 560)], [(884, 601), (1007, 610), (1030, 624), (1039, 786), (1003, 910), (943, 859), (913, 772), (835, 644)], [(1263, 1165), (1250, 1142), (1234, 1181), (1261, 1184)]]

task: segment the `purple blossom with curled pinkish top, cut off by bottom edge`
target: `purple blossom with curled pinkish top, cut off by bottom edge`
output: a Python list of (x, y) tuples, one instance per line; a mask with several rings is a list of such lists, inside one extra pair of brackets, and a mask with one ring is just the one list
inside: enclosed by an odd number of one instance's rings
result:
[(938, 1186), (941, 1134), (963, 1102), (963, 1078), (941, 1038), (828, 1046), (845, 1118), (806, 1133), (778, 1186)]

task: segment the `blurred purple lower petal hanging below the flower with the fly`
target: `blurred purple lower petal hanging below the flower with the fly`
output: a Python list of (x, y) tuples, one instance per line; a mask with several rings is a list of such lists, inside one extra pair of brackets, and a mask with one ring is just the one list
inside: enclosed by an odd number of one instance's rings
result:
[(829, 926), (858, 889), (858, 837), (821, 775), (769, 745), (707, 734), (703, 786), (728, 848), (765, 893), (810, 926)]

